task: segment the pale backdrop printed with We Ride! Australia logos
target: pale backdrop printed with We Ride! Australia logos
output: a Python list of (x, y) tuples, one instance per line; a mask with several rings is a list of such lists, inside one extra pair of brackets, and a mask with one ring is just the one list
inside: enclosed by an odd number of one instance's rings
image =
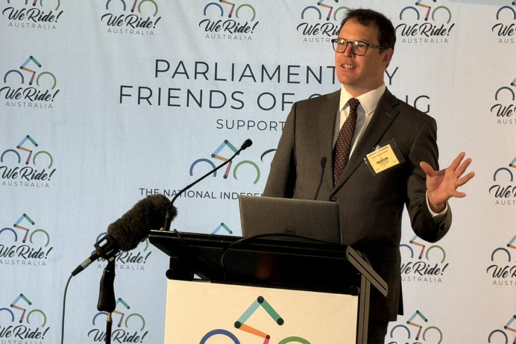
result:
[[(250, 138), (228, 171), (176, 201), (172, 223), (240, 235), (237, 195), (262, 192), (292, 103), (340, 86), (329, 40), (356, 7), (393, 21), (385, 83), (436, 118), (441, 166), (466, 151), (476, 172), (437, 245), (405, 222), (405, 315), (386, 342), (511, 342), (516, 5), (416, 4), (3, 0), (0, 342), (58, 341), (66, 280), (107, 225), (147, 194), (171, 198), (221, 162), (212, 154)], [(114, 340), (163, 342), (167, 264), (147, 243), (119, 257)], [(66, 342), (103, 340), (103, 268), (72, 279)]]

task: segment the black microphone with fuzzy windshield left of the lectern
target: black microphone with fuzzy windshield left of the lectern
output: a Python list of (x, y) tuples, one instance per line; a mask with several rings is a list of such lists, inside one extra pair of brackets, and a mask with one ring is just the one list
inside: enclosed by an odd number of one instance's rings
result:
[(169, 199), (162, 194), (147, 196), (138, 201), (131, 210), (107, 227), (107, 234), (93, 245), (95, 252), (73, 270), (72, 276), (100, 257), (110, 261), (120, 250), (130, 251), (136, 248), (140, 241), (149, 236), (151, 229), (161, 226), (166, 212), (171, 217), (170, 221), (177, 215)]

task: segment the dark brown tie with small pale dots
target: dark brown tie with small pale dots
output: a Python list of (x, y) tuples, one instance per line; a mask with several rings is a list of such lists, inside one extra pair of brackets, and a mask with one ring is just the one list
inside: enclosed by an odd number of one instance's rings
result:
[(357, 108), (360, 102), (358, 99), (351, 98), (348, 104), (349, 116), (344, 121), (340, 132), (338, 132), (335, 148), (333, 148), (333, 185), (338, 181), (344, 167), (346, 167), (351, 149), (351, 140), (357, 126)]

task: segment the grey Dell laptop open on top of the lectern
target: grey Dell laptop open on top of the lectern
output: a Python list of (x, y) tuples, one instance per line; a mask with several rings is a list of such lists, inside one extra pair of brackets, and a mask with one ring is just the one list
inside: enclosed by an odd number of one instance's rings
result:
[[(239, 195), (238, 203), (243, 237), (277, 233), (341, 243), (336, 202)], [(288, 237), (276, 239), (290, 240)], [(293, 237), (292, 240), (298, 239)]]

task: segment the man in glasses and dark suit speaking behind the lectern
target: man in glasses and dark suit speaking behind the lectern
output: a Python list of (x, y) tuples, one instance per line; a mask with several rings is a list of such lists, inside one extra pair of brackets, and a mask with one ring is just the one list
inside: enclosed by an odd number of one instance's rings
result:
[(404, 205), (414, 233), (441, 239), (449, 229), (447, 200), (471, 159), (460, 153), (438, 168), (436, 121), (386, 89), (383, 74), (396, 31), (381, 13), (350, 10), (332, 40), (340, 90), (297, 102), (283, 128), (264, 196), (337, 202), (343, 244), (367, 255), (388, 283), (370, 298), (368, 342), (384, 342), (402, 314), (400, 252)]

